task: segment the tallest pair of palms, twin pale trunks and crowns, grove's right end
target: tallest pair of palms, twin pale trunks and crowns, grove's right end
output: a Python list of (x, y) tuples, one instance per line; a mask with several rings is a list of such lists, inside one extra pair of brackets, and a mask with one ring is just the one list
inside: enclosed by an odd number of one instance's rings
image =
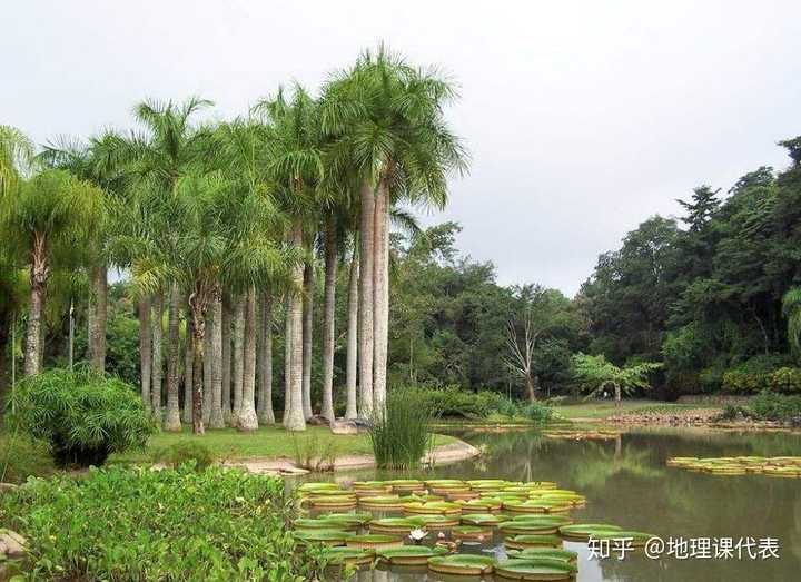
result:
[(455, 96), (436, 71), (424, 71), (380, 47), (325, 88), (323, 129), (336, 138), (343, 166), (360, 186), (359, 384), (380, 413), (388, 341), (388, 217), (393, 203), (442, 207), (447, 175), (466, 169), (466, 154), (444, 120)]

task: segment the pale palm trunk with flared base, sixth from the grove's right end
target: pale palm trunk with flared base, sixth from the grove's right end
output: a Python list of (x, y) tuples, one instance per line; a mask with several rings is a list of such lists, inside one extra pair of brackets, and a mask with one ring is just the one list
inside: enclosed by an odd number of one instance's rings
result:
[[(303, 245), (303, 227), (297, 221), (293, 228), (293, 244), (300, 248)], [(284, 418), (288, 431), (305, 431), (306, 417), (303, 411), (303, 293), (304, 266), (293, 267), (293, 289), (289, 290), (289, 317), (291, 319), (291, 357), (289, 358), (289, 414)]]

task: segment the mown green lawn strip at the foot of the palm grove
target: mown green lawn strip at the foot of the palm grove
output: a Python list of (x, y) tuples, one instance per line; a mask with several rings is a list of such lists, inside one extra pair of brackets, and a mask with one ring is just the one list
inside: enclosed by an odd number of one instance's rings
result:
[[(264, 426), (253, 433), (240, 433), (234, 428), (206, 431), (202, 436), (194, 436), (190, 427), (181, 433), (158, 433), (150, 437), (147, 448), (123, 455), (112, 455), (112, 462), (148, 462), (156, 457), (159, 450), (180, 441), (197, 440), (208, 446), (219, 458), (248, 457), (295, 457), (296, 447), (301, 451), (312, 448), (323, 452), (333, 442), (338, 456), (373, 454), (366, 434), (334, 435), (327, 426), (309, 426), (301, 433), (288, 433), (278, 426)], [(435, 444), (454, 442), (453, 436), (436, 435)]]

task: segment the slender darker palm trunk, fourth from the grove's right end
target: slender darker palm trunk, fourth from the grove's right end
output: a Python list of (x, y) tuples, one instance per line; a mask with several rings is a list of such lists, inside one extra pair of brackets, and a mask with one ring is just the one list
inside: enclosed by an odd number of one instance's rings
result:
[(334, 422), (334, 338), (336, 334), (337, 240), (334, 218), (325, 229), (325, 289), (323, 298), (323, 407), (320, 414)]

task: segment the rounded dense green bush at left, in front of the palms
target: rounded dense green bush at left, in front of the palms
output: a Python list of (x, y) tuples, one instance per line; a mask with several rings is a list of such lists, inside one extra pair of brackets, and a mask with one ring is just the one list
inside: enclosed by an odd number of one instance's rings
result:
[(11, 426), (48, 443), (59, 466), (101, 465), (111, 453), (144, 448), (157, 430), (132, 386), (89, 367), (26, 378), (11, 407)]

